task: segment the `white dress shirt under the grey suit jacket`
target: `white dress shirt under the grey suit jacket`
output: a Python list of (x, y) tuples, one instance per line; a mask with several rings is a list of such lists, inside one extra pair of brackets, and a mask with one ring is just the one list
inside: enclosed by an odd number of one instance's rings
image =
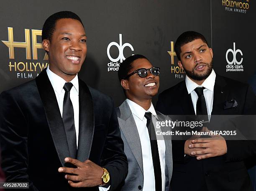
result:
[[(148, 135), (148, 128), (146, 126), (147, 119), (144, 117), (145, 112), (151, 112), (152, 117), (155, 117), (156, 111), (153, 104), (151, 103), (150, 108), (146, 111), (143, 107), (139, 106), (130, 99), (126, 99), (133, 118), (135, 120), (138, 134), (141, 141), (142, 161), (143, 161), (143, 191), (155, 191), (155, 175), (154, 166), (151, 153), (150, 138)], [(157, 140), (159, 160), (161, 166), (161, 177), (162, 177), (162, 191), (165, 187), (165, 142), (164, 140)]]

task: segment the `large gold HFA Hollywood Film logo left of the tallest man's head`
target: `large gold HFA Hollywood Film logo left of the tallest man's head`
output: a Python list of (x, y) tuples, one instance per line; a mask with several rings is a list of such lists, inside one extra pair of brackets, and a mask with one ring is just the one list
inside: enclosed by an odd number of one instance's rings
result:
[[(43, 48), (43, 46), (41, 43), (37, 42), (37, 36), (41, 36), (42, 31), (31, 29), (31, 34), (32, 34), (33, 60), (38, 60), (38, 49)], [(10, 59), (8, 63), (9, 70), (10, 72), (18, 71), (17, 78), (33, 78), (32, 73), (28, 73), (28, 71), (39, 72), (48, 66), (47, 61), (45, 63), (33, 62), (33, 61), (27, 62), (27, 61), (20, 61), (21, 59), (24, 59), (24, 58), (18, 58), (18, 59), (15, 58), (14, 48), (26, 48), (26, 60), (32, 60), (31, 59), (31, 43), (30, 43), (31, 38), (30, 38), (29, 29), (25, 29), (25, 42), (16, 42), (14, 41), (14, 38), (13, 38), (13, 28), (8, 27), (8, 41), (2, 41), (2, 42), (5, 44), (5, 46), (9, 48), (9, 59)], [(44, 60), (48, 60), (48, 56), (46, 53), (44, 55)]]

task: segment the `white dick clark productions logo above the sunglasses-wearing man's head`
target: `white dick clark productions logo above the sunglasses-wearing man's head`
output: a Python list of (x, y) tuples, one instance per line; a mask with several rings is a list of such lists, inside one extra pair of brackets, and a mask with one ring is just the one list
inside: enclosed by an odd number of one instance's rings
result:
[[(110, 55), (110, 48), (112, 46), (116, 46), (119, 51), (118, 57), (115, 59)], [(133, 46), (130, 43), (123, 44), (122, 34), (119, 34), (119, 44), (116, 42), (109, 43), (108, 48), (107, 48), (108, 58), (110, 59), (110, 62), (108, 63), (108, 71), (118, 71), (120, 63), (122, 63), (125, 60), (125, 57), (123, 55), (123, 49), (126, 46), (128, 46), (131, 49), (131, 51), (134, 51)], [(132, 54), (132, 55), (134, 55), (134, 54)], [(118, 61), (120, 61), (120, 63), (118, 63)]]

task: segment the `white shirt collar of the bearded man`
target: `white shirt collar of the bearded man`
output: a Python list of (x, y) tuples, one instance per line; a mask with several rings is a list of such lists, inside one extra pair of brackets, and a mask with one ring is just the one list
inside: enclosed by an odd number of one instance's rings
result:
[(186, 76), (185, 82), (186, 82), (188, 94), (190, 94), (197, 87), (205, 87), (206, 89), (209, 89), (210, 91), (213, 92), (215, 78), (216, 78), (216, 74), (215, 74), (215, 71), (212, 69), (211, 74), (205, 79), (205, 81), (200, 86), (197, 83), (195, 83), (194, 81), (192, 81), (188, 76)]

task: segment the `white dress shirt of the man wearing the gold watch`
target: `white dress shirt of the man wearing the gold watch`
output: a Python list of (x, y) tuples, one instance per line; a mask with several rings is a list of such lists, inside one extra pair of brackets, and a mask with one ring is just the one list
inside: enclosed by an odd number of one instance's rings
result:
[[(64, 94), (65, 90), (63, 89), (64, 84), (66, 81), (58, 76), (57, 74), (54, 74), (49, 67), (46, 69), (47, 75), (49, 77), (49, 80), (51, 81), (51, 85), (54, 89), (56, 99), (59, 105), (59, 111), (63, 113), (63, 100), (64, 100)], [(74, 125), (76, 129), (76, 137), (77, 137), (77, 147), (78, 147), (78, 135), (79, 135), (79, 85), (78, 85), (78, 76), (76, 75), (74, 79), (72, 79), (71, 82), (73, 84), (73, 87), (70, 90), (70, 99), (73, 105), (74, 109)], [(82, 161), (83, 162), (83, 161)], [(109, 190), (110, 186), (108, 188), (99, 186), (100, 191), (107, 191)]]

